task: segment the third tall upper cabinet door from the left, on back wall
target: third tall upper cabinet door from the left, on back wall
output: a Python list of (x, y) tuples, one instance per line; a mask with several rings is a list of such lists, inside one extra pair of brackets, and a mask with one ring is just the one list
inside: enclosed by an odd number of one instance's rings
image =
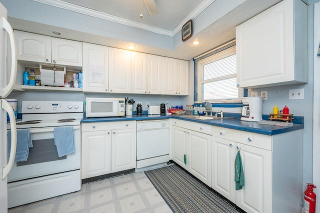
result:
[(147, 93), (146, 53), (131, 52), (131, 92)]

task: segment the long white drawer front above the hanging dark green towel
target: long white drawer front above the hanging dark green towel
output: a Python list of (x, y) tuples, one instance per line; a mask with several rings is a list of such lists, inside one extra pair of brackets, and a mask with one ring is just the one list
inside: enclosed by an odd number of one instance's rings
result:
[(221, 137), (257, 148), (272, 150), (272, 136), (270, 135), (212, 126), (212, 136)]

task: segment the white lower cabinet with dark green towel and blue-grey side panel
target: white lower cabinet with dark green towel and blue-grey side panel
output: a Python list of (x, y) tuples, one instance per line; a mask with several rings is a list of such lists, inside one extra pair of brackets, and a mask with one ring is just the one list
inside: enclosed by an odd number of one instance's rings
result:
[[(238, 150), (244, 186), (235, 190)], [(265, 135), (212, 126), (212, 188), (246, 212), (301, 212), (302, 129)]]

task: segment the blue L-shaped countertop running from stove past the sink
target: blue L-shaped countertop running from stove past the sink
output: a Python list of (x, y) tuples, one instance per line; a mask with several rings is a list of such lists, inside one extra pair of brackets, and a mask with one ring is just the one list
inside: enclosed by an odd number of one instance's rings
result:
[[(300, 123), (294, 123), (293, 126), (275, 126), (275, 125), (267, 125), (267, 124), (259, 124), (257, 122), (251, 121), (242, 121), (240, 120), (240, 115), (230, 113), (223, 113), (224, 117), (235, 117), (235, 119), (230, 118), (222, 118), (222, 119), (208, 119), (208, 120), (199, 120), (194, 118), (185, 117), (183, 115), (132, 115), (132, 116), (120, 116), (120, 117), (84, 117), (81, 120), (81, 123), (87, 122), (107, 122), (107, 121), (125, 121), (125, 120), (152, 120), (152, 119), (168, 119), (168, 118), (176, 118), (181, 120), (188, 120), (198, 123), (205, 123), (209, 125), (221, 126), (225, 128), (232, 128), (242, 131), (249, 131), (259, 134), (266, 135), (274, 135), (283, 132), (293, 131), (296, 129), (302, 129), (303, 125), (303, 117), (297, 117), (296, 120), (300, 120)], [(263, 119), (265, 117), (263, 116)], [(267, 120), (267, 118), (266, 118)]]

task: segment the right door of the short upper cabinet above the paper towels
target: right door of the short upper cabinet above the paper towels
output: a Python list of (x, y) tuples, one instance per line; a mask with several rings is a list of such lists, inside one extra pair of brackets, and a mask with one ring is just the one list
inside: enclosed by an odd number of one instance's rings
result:
[(82, 66), (82, 43), (75, 40), (51, 37), (52, 63)]

